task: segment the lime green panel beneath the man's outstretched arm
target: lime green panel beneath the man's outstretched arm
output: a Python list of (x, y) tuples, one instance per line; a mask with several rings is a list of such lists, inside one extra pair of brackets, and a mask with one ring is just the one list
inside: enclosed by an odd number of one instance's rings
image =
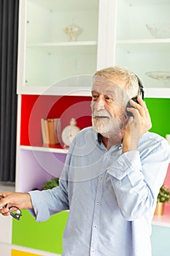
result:
[(12, 221), (12, 244), (61, 255), (63, 230), (69, 212), (55, 214), (46, 222), (36, 222), (27, 210), (23, 210), (22, 214), (20, 221)]

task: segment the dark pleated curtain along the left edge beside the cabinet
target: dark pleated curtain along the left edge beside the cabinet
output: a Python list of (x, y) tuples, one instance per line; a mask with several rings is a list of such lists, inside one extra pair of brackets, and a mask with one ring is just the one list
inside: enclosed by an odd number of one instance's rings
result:
[(19, 0), (0, 0), (0, 181), (15, 181)]

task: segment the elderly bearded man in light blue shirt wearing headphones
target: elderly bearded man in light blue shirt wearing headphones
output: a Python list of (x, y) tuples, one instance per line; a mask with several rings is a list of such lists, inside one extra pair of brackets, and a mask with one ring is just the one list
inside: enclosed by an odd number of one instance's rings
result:
[(42, 222), (69, 210), (64, 256), (151, 256), (152, 216), (170, 150), (164, 138), (148, 132), (150, 115), (142, 97), (142, 83), (125, 67), (96, 72), (93, 127), (72, 141), (60, 186), (1, 192), (0, 213), (9, 215), (14, 205), (30, 209)]

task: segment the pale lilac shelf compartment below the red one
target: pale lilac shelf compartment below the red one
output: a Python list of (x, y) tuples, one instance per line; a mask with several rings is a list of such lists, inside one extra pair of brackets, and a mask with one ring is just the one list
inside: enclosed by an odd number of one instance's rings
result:
[(20, 148), (18, 159), (20, 175), (16, 180), (16, 191), (28, 192), (33, 189), (41, 190), (45, 181), (50, 178), (59, 178), (66, 154)]

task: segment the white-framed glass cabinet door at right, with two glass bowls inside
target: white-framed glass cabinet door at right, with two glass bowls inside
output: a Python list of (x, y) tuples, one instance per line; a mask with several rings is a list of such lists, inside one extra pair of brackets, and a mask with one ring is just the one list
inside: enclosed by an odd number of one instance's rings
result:
[(170, 1), (117, 1), (115, 64), (142, 79), (147, 97), (170, 97)]

